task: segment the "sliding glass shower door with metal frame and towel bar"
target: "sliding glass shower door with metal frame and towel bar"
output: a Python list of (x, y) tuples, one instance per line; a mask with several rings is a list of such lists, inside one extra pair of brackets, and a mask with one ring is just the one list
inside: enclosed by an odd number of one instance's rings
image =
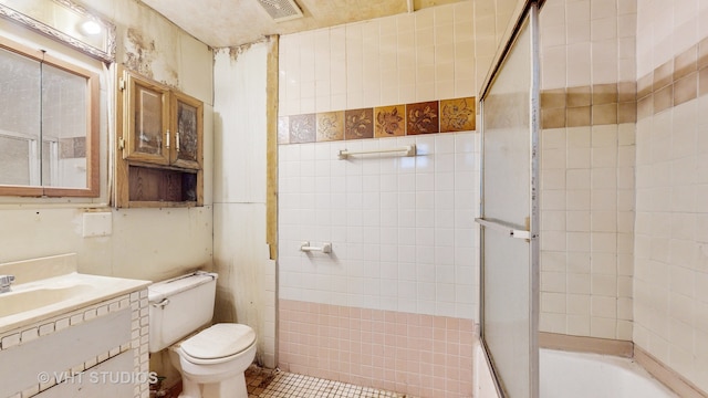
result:
[(481, 339), (508, 398), (538, 398), (538, 6), (482, 91)]

